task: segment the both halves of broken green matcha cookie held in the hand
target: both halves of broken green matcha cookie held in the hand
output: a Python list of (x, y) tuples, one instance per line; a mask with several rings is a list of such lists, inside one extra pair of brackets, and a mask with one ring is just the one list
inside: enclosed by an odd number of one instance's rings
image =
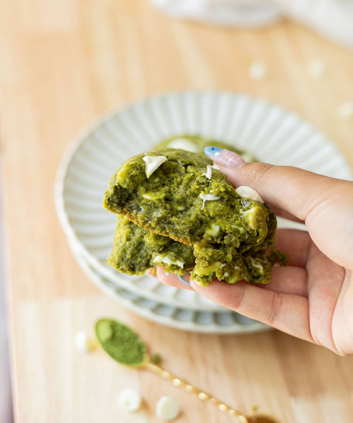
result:
[(161, 149), (126, 160), (109, 181), (104, 206), (119, 216), (109, 264), (133, 275), (153, 266), (207, 286), (212, 279), (267, 283), (282, 253), (266, 254), (276, 219), (244, 199), (204, 155)]

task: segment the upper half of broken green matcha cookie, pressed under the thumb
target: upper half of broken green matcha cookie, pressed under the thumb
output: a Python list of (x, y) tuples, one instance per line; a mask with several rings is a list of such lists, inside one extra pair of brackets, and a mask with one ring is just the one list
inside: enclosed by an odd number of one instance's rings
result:
[[(161, 157), (166, 160), (155, 168), (150, 162), (153, 157), (157, 163)], [(227, 176), (211, 165), (206, 156), (183, 150), (131, 157), (109, 181), (104, 207), (185, 244), (220, 243), (234, 253), (261, 244), (272, 210), (256, 201), (244, 201)]]

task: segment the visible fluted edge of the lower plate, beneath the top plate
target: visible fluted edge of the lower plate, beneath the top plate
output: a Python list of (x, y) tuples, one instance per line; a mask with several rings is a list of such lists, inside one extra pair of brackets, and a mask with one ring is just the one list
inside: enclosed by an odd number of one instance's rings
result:
[(178, 308), (164, 304), (163, 302), (156, 302), (149, 298), (142, 297), (135, 292), (118, 286), (116, 283), (100, 275), (85, 258), (75, 250), (73, 245), (70, 245), (70, 248), (78, 265), (95, 285), (110, 297), (117, 300), (124, 307), (148, 320), (174, 327), (175, 329), (203, 333), (244, 334), (272, 329), (266, 324), (248, 319), (230, 310), (228, 310), (227, 313), (222, 313), (212, 310)]

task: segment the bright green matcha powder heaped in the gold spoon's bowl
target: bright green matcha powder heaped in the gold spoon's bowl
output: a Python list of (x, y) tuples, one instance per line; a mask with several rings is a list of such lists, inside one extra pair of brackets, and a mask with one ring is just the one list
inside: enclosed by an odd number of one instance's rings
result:
[(146, 347), (139, 335), (116, 320), (102, 319), (96, 323), (97, 339), (104, 351), (125, 365), (141, 364)]

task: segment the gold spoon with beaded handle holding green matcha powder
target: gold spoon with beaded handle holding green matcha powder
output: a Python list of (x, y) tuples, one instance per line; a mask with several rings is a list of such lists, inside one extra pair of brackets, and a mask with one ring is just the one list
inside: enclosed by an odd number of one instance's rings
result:
[(97, 340), (103, 350), (120, 364), (129, 367), (143, 368), (156, 373), (163, 379), (170, 380), (174, 386), (181, 387), (186, 390), (186, 392), (197, 395), (200, 400), (211, 402), (211, 404), (214, 404), (220, 411), (238, 418), (240, 423), (280, 423), (274, 416), (263, 412), (253, 412), (249, 415), (245, 415), (239, 410), (214, 398), (211, 394), (190, 385), (160, 366), (152, 363), (150, 356), (147, 354), (145, 344), (139, 335), (116, 320), (98, 320), (95, 325), (95, 332)]

